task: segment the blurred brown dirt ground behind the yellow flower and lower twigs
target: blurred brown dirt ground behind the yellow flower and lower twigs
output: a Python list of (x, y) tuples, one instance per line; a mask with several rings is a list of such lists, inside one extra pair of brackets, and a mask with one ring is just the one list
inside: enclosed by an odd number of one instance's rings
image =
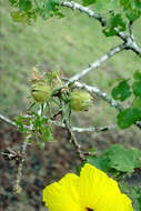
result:
[[(130, 132), (130, 130), (114, 130), (102, 133), (79, 133), (77, 135), (85, 150), (95, 147), (101, 151), (111, 143), (141, 149), (139, 132), (139, 130), (137, 133)], [(17, 173), (16, 162), (7, 161), (0, 154), (0, 211), (48, 211), (42, 203), (43, 188), (62, 178), (67, 172), (74, 172), (74, 168), (80, 164), (73, 145), (67, 141), (66, 131), (57, 128), (54, 137), (58, 141), (47, 143), (44, 150), (36, 145), (28, 147), (21, 180), (23, 190), (20, 194), (14, 194), (12, 190)], [(18, 151), (21, 143), (21, 133), (1, 122), (0, 152), (7, 148)]]

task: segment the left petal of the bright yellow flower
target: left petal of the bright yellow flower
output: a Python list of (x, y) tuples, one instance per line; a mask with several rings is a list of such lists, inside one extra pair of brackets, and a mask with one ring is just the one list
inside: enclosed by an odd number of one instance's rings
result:
[(49, 211), (83, 211), (79, 201), (79, 177), (68, 173), (59, 182), (43, 190), (43, 202)]

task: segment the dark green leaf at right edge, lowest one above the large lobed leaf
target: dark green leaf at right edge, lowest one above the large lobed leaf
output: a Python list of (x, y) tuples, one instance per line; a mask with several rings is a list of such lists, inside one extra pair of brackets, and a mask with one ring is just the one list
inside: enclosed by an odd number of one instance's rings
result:
[(141, 110), (137, 108), (128, 108), (118, 114), (118, 125), (121, 129), (129, 128), (135, 121), (141, 121)]

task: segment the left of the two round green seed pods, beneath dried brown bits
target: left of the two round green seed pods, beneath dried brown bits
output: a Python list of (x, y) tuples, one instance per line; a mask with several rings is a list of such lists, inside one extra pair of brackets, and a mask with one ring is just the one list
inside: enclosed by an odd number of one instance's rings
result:
[(46, 81), (39, 80), (31, 86), (31, 96), (36, 102), (43, 103), (49, 101), (51, 97), (51, 88), (47, 86)]

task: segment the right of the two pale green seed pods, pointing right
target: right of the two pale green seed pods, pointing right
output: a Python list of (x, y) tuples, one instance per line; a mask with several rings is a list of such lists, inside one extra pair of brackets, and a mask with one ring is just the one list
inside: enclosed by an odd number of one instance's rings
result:
[(73, 91), (70, 94), (71, 109), (85, 111), (92, 105), (92, 97), (85, 91)]

